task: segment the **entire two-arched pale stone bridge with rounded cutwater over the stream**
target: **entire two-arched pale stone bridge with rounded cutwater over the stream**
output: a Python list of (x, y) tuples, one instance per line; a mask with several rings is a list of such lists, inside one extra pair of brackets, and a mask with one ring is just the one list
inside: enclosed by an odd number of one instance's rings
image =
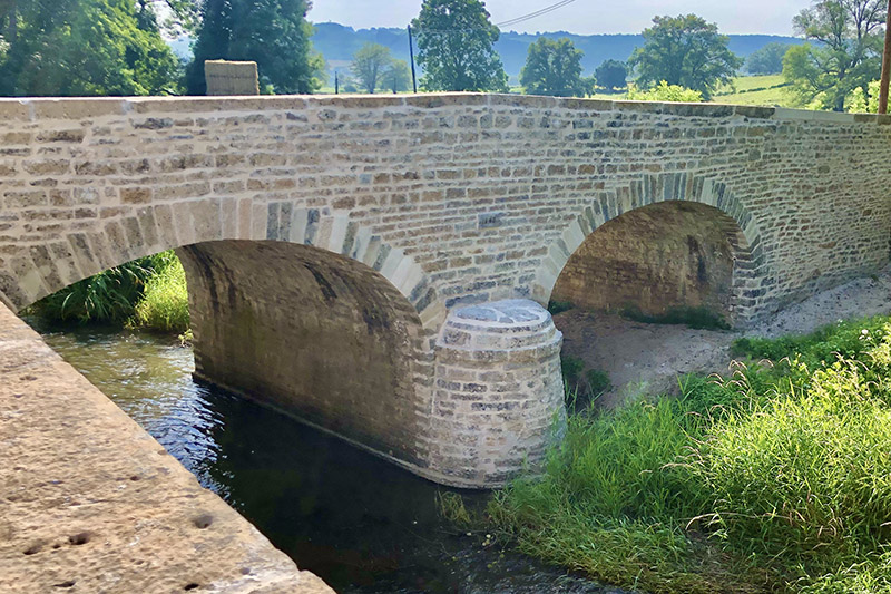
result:
[(889, 261), (889, 117), (456, 94), (0, 118), (8, 306), (177, 249), (199, 377), (452, 485), (559, 435), (549, 300), (744, 327)]

